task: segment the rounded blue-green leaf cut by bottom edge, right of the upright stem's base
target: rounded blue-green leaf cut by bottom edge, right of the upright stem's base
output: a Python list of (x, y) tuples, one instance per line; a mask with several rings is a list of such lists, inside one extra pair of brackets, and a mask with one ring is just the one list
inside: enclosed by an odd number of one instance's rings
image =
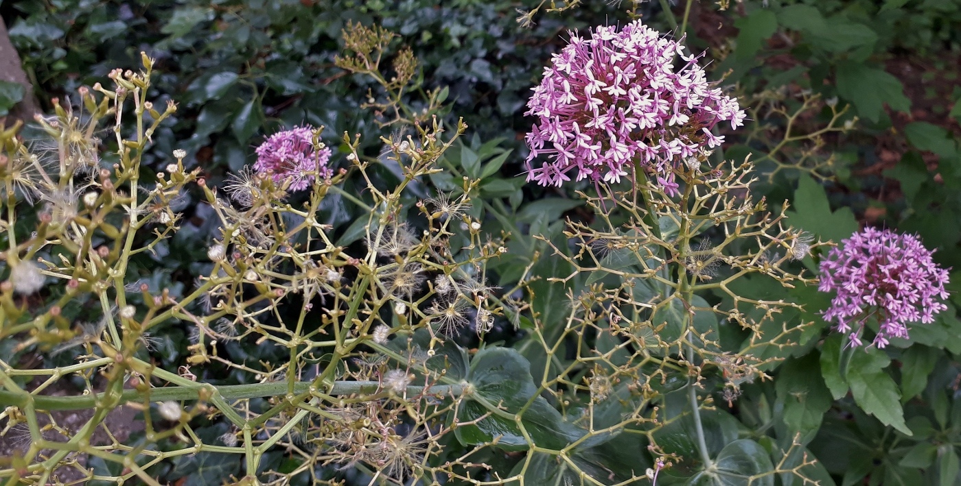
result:
[(687, 484), (774, 486), (774, 469), (767, 450), (751, 439), (740, 439), (721, 450), (715, 459), (714, 468), (692, 477)]

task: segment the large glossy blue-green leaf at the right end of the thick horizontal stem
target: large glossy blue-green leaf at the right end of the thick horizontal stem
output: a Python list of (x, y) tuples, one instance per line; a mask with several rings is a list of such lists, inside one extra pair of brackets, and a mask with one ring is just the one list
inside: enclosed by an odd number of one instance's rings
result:
[(530, 362), (513, 349), (485, 348), (478, 352), (467, 381), (473, 385), (473, 393), (462, 403), (457, 419), (461, 423), (477, 422), (456, 428), (461, 444), (478, 445), (496, 439), (497, 447), (504, 450), (526, 450), (531, 445), (560, 450), (584, 434), (566, 423), (560, 412), (537, 394)]

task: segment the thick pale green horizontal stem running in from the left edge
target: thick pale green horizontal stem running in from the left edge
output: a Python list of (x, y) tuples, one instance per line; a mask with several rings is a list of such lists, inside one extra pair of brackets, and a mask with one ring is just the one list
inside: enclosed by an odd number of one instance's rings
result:
[[(307, 392), (311, 384), (312, 383), (308, 381), (294, 383), (294, 391), (298, 394)], [(203, 385), (203, 383), (198, 383), (198, 385)], [(280, 397), (287, 393), (287, 383), (285, 382), (223, 385), (217, 387), (213, 387), (213, 385), (207, 386), (215, 388), (224, 400)], [(162, 388), (152, 388), (150, 390), (150, 401), (198, 400), (204, 388), (204, 386), (166, 386)], [(427, 393), (430, 395), (460, 396), (464, 394), (464, 390), (466, 389), (467, 384), (465, 383), (427, 387), (410, 385), (407, 386), (407, 395), (417, 396)], [(329, 395), (373, 394), (380, 391), (382, 391), (380, 381), (335, 381)], [(32, 401), (34, 407), (39, 410), (82, 410), (95, 407), (98, 402), (104, 400), (105, 395), (105, 393), (98, 393), (96, 395), (79, 397), (49, 397), (45, 395), (31, 396), (3, 390), (0, 391), (0, 406), (26, 406)], [(125, 390), (120, 395), (119, 403), (140, 401), (142, 397), (143, 393), (139, 390)]]

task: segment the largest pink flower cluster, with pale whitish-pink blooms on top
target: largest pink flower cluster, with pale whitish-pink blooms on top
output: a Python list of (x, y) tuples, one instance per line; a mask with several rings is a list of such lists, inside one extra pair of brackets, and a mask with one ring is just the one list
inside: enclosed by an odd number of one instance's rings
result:
[[(700, 56), (639, 20), (598, 27), (590, 39), (569, 34), (525, 113), (538, 118), (526, 137), (529, 182), (559, 186), (575, 170), (578, 181), (619, 182), (640, 162), (676, 192), (679, 162), (724, 142), (711, 129), (743, 124), (737, 100), (707, 82)], [(550, 160), (533, 167), (540, 156)]]

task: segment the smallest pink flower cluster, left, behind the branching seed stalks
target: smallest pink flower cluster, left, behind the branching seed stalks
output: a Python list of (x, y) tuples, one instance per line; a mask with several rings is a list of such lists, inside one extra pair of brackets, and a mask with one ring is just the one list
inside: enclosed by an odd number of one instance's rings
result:
[(308, 188), (314, 178), (331, 177), (327, 167), (331, 159), (331, 149), (313, 145), (313, 128), (297, 127), (292, 130), (270, 135), (257, 148), (257, 162), (254, 170), (267, 174), (274, 183), (289, 181), (287, 190), (300, 191)]

